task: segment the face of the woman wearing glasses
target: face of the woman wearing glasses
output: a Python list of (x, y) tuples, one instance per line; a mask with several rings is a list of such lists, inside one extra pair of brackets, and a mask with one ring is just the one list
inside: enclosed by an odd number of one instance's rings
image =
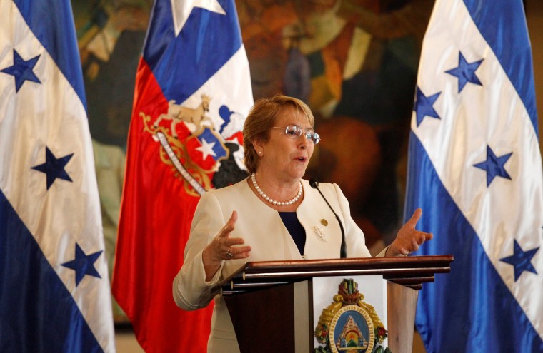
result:
[[(287, 126), (302, 128), (301, 136), (285, 133)], [(261, 159), (257, 173), (266, 178), (274, 178), (277, 183), (291, 183), (302, 178), (313, 155), (314, 144), (306, 138), (306, 132), (313, 127), (303, 111), (292, 107), (282, 108), (277, 116), (274, 128), (269, 131), (269, 140), (258, 141), (254, 148), (261, 151)]]

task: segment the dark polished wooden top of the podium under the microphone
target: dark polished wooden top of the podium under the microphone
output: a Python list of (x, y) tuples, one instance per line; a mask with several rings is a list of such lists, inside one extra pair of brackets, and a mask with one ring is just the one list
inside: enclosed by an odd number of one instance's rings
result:
[(434, 274), (450, 272), (452, 261), (452, 255), (437, 255), (246, 262), (217, 287), (229, 295), (312, 277), (383, 275), (385, 280), (418, 290), (423, 282), (434, 282)]

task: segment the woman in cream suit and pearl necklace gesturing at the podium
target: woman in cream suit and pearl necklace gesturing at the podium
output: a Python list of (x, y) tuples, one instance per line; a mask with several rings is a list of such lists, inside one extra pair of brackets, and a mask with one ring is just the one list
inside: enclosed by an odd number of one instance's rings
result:
[[(211, 290), (246, 261), (339, 258), (342, 231), (327, 202), (344, 225), (347, 256), (371, 256), (339, 186), (302, 179), (320, 140), (305, 103), (262, 98), (249, 112), (243, 134), (251, 176), (202, 195), (173, 284), (174, 300), (183, 309), (206, 307), (215, 298), (208, 352), (239, 352), (224, 299)], [(421, 214), (414, 213), (381, 256), (408, 255), (432, 238), (415, 229)]]

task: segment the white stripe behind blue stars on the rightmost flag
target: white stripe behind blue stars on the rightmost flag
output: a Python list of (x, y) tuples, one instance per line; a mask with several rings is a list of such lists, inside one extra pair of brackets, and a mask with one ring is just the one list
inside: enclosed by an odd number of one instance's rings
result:
[[(500, 261), (512, 255), (514, 240), (527, 249), (539, 246), (534, 232), (539, 230), (541, 237), (543, 175), (537, 135), (517, 91), (464, 3), (443, 2), (447, 6), (434, 9), (422, 49), (435, 55), (422, 57), (418, 78), (426, 96), (441, 92), (434, 103), (441, 119), (426, 117), (417, 127), (414, 118), (412, 131), (502, 280), (543, 338), (543, 302), (530, 300), (543, 295), (543, 277), (523, 275), (515, 282), (512, 266)], [(458, 66), (459, 52), (468, 63), (484, 59), (476, 71), (482, 86), (467, 83), (458, 92), (458, 79), (445, 71)], [(474, 167), (487, 159), (487, 145), (497, 156), (512, 153), (505, 163), (512, 180), (497, 177), (487, 187), (486, 172)], [(532, 196), (531, 202), (526, 195)], [(543, 269), (543, 255), (534, 256), (532, 264)]]

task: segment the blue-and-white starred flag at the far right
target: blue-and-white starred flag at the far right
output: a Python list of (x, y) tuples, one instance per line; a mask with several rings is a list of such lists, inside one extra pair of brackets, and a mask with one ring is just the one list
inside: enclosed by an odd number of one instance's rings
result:
[(543, 175), (522, 0), (437, 0), (424, 37), (406, 215), (452, 254), (424, 285), (428, 352), (543, 352)]

